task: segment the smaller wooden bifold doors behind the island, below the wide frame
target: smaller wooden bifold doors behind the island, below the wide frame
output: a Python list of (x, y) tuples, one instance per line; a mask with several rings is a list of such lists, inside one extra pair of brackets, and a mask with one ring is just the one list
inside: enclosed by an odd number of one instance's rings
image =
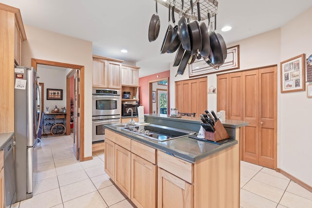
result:
[(207, 77), (177, 81), (176, 108), (196, 115), (207, 110)]

